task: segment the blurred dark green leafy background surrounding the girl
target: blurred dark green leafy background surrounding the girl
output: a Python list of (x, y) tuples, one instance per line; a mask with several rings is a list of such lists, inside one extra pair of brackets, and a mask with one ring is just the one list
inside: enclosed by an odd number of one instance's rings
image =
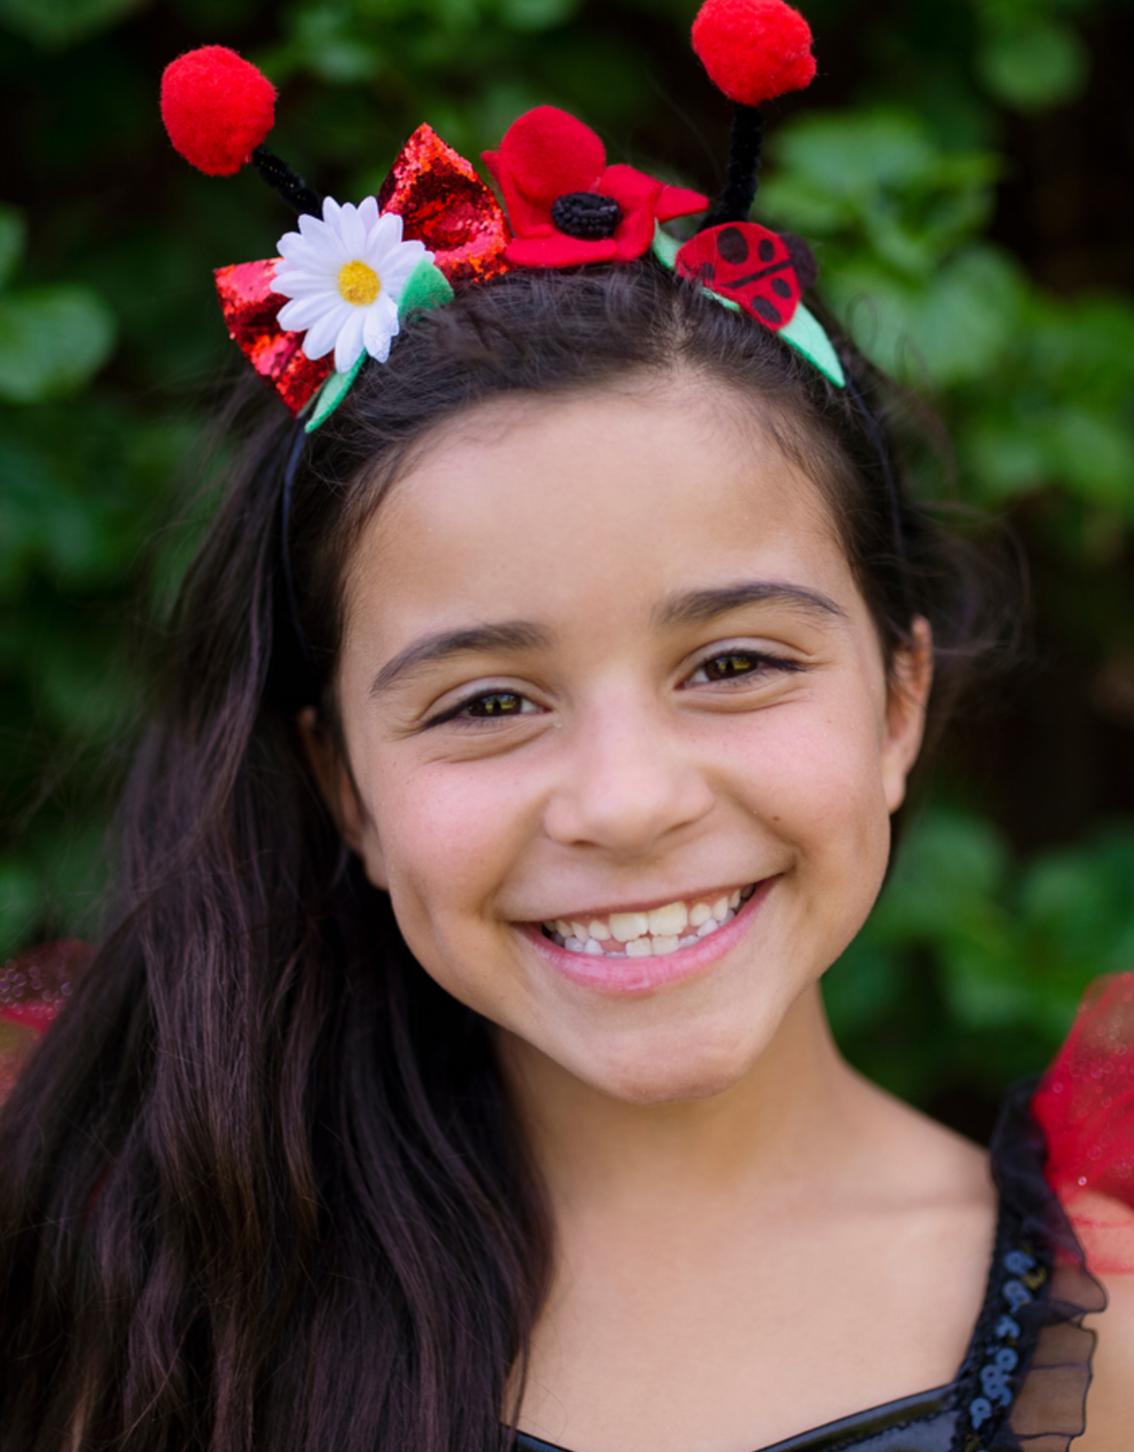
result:
[[(829, 999), (852, 1057), (966, 1119), (1134, 967), (1131, 0), (815, 0), (758, 215), (816, 245), (867, 350), (929, 396), (955, 478), (1035, 571), (1044, 666), (954, 751)], [(286, 228), (254, 176), (164, 141), (161, 65), (235, 45), (272, 145), (340, 197), (428, 121), (469, 157), (530, 105), (713, 190), (727, 107), (694, 0), (0, 0), (0, 954), (81, 929), (203, 421), (235, 367), (211, 269)], [(1125, 138), (1125, 139), (1124, 139)], [(109, 767), (107, 767), (109, 764)], [(958, 1099), (960, 1096), (960, 1099)], [(980, 1112), (970, 1114), (971, 1122)]]

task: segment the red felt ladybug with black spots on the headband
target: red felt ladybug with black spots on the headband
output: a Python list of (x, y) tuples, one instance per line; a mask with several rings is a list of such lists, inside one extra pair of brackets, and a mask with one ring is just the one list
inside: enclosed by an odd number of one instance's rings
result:
[(806, 242), (755, 222), (698, 232), (678, 251), (675, 266), (682, 277), (739, 303), (775, 333), (794, 318), (800, 295), (816, 276)]

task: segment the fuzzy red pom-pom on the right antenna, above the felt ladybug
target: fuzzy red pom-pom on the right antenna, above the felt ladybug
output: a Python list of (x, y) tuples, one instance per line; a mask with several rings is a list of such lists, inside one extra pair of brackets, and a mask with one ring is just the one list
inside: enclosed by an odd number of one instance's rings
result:
[(713, 83), (743, 106), (803, 90), (815, 78), (812, 29), (784, 0), (704, 0), (693, 48)]

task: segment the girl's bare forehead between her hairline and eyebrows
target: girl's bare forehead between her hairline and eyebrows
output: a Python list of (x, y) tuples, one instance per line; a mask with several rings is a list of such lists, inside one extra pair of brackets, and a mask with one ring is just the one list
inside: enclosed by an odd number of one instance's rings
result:
[(648, 379), (505, 398), (438, 430), (392, 485), (351, 560), (347, 633), (370, 605), (407, 629), (624, 616), (752, 575), (844, 597), (851, 581), (819, 488), (749, 399)]

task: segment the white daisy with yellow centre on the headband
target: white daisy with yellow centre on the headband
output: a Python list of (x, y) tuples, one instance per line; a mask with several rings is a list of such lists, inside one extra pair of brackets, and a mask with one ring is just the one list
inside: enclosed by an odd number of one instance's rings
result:
[(346, 373), (366, 350), (385, 363), (398, 334), (398, 299), (417, 264), (433, 253), (420, 241), (402, 241), (396, 212), (378, 211), (367, 196), (343, 206), (330, 196), (318, 216), (301, 216), (299, 231), (279, 241), (283, 263), (273, 289), (290, 298), (279, 324), (305, 333), (303, 353), (321, 359), (334, 348), (335, 370)]

